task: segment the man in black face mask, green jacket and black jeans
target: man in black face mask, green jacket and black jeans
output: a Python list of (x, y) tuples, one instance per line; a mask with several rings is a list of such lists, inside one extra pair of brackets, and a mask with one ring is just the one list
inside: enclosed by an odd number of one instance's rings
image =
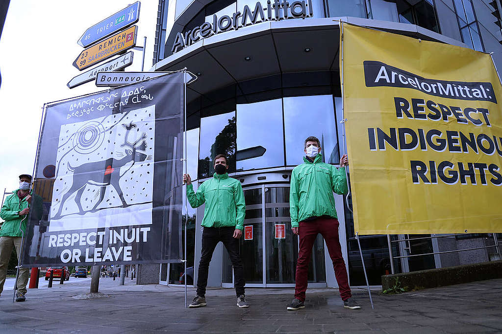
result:
[(183, 182), (187, 184), (187, 198), (192, 208), (206, 203), (204, 218), (201, 225), (202, 254), (199, 262), (197, 278), (197, 295), (193, 298), (189, 307), (206, 305), (206, 286), (209, 262), (213, 256), (214, 248), (218, 242), (223, 242), (233, 265), (235, 280), (235, 292), (237, 294), (237, 306), (248, 307), (244, 295), (244, 269), (239, 255), (239, 238), (242, 235), (245, 204), (244, 193), (240, 182), (228, 177), (228, 162), (223, 154), (214, 158), (213, 178), (202, 183), (193, 191), (190, 175), (183, 175)]

